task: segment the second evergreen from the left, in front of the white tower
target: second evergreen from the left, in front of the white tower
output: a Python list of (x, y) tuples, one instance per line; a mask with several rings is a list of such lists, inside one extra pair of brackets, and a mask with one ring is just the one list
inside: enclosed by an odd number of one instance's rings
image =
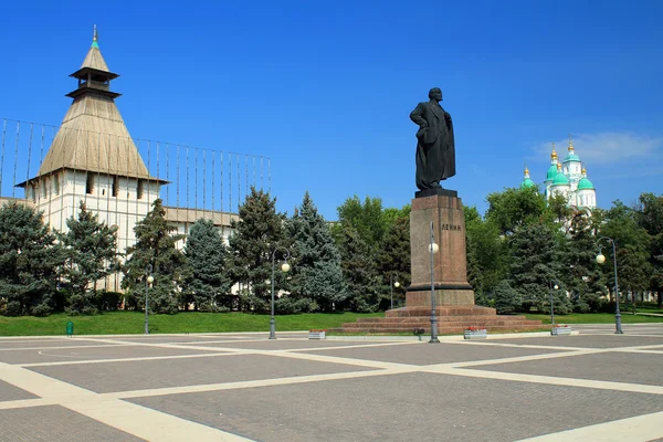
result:
[(66, 220), (69, 231), (56, 233), (65, 248), (66, 260), (61, 267), (69, 291), (67, 312), (97, 313), (101, 296), (96, 287), (118, 269), (116, 228), (98, 222), (81, 201), (77, 218)]

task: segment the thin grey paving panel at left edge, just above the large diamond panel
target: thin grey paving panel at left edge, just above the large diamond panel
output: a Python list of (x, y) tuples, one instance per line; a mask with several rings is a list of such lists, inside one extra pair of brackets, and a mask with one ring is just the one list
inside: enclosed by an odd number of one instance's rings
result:
[(0, 351), (0, 362), (48, 364), (91, 359), (148, 358), (159, 356), (218, 354), (198, 349), (161, 348), (146, 346), (99, 346), (86, 348), (53, 348), (43, 350)]

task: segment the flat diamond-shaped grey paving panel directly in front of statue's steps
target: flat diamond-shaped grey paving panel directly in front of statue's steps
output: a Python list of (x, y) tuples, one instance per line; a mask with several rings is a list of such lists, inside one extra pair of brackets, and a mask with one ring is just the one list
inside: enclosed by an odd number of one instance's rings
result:
[(386, 347), (364, 347), (301, 351), (304, 354), (336, 356), (350, 359), (369, 359), (383, 362), (428, 366), (433, 364), (464, 362), (480, 359), (511, 358), (517, 356), (554, 354), (561, 350), (512, 348), (474, 344), (410, 344)]

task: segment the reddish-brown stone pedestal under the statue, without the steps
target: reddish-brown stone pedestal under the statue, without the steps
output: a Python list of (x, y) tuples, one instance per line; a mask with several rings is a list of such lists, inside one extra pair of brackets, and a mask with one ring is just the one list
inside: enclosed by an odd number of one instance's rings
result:
[(418, 192), (412, 200), (412, 283), (406, 294), (406, 306), (431, 305), (431, 222), (434, 242), (440, 248), (433, 255), (435, 304), (474, 305), (474, 291), (467, 283), (463, 203), (454, 190), (434, 189)]

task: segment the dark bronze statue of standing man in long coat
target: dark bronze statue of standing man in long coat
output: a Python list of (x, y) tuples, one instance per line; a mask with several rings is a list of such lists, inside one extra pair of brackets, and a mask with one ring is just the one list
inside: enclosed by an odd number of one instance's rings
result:
[(441, 188), (440, 180), (455, 175), (453, 124), (440, 102), (442, 91), (433, 87), (429, 102), (422, 102), (410, 114), (419, 125), (417, 131), (417, 187), (419, 190)]

